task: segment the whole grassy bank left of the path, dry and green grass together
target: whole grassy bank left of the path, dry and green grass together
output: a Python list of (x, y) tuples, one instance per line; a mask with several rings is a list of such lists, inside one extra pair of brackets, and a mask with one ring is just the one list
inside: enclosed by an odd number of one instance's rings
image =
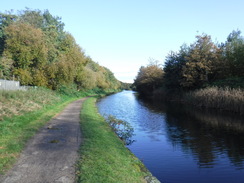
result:
[(66, 89), (0, 91), (0, 174), (16, 161), (27, 140), (53, 116), (77, 98), (104, 92)]

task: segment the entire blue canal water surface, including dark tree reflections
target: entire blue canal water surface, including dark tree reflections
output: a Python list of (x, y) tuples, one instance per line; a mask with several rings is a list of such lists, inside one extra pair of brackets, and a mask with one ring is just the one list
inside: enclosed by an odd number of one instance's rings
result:
[(164, 183), (244, 183), (244, 120), (238, 115), (148, 102), (123, 91), (97, 102), (129, 122), (128, 148)]

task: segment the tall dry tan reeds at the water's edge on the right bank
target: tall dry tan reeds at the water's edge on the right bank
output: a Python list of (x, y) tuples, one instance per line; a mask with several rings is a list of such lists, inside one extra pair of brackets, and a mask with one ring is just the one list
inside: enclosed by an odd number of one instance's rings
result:
[(244, 114), (244, 90), (209, 87), (186, 94), (188, 103)]

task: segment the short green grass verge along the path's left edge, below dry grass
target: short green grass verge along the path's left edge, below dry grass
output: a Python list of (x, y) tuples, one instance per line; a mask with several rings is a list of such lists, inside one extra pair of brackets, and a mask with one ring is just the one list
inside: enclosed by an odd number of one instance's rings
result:
[(13, 165), (27, 140), (73, 100), (64, 97), (54, 104), (0, 121), (0, 175)]

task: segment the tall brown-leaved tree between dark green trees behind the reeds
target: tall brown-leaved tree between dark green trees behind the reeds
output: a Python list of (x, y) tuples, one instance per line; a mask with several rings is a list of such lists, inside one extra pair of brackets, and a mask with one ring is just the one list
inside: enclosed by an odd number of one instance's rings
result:
[(213, 72), (213, 63), (219, 59), (218, 47), (211, 41), (211, 37), (203, 34), (196, 36), (197, 41), (190, 46), (187, 62), (182, 68), (181, 86), (185, 89), (202, 87), (209, 81)]

